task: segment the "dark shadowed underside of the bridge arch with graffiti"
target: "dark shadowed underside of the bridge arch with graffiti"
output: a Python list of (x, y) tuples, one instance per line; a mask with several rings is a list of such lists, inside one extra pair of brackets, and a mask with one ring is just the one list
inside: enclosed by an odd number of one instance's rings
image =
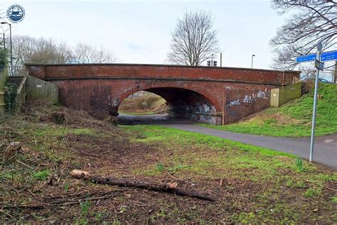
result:
[(221, 123), (222, 118), (217, 115), (217, 109), (213, 102), (203, 94), (191, 89), (151, 87), (142, 89), (142, 91), (157, 94), (165, 99), (169, 106), (169, 116), (171, 118), (186, 118), (207, 124)]

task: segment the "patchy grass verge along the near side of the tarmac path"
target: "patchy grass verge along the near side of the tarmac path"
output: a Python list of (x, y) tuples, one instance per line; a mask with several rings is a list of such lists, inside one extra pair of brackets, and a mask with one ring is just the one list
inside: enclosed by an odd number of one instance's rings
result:
[[(314, 221), (319, 217), (315, 212), (321, 210), (321, 204), (328, 212), (320, 214), (324, 223), (337, 219), (333, 213), (337, 206), (336, 192), (330, 192), (331, 187), (333, 190), (337, 187), (336, 172), (294, 155), (200, 133), (149, 125), (123, 128), (134, 143), (160, 146), (146, 156), (146, 164), (133, 169), (135, 175), (156, 179), (169, 174), (178, 180), (195, 182), (224, 180), (227, 194), (246, 187), (244, 198), (250, 201), (245, 203), (248, 209), (239, 209), (223, 221), (243, 224)], [(278, 214), (282, 216), (275, 217)]]

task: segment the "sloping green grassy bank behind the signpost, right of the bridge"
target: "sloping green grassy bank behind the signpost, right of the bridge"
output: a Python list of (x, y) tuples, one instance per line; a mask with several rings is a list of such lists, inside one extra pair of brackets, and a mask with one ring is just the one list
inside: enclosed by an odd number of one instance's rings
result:
[[(320, 84), (316, 116), (316, 136), (337, 133), (337, 85)], [(304, 137), (311, 135), (314, 93), (290, 101), (279, 108), (269, 108), (243, 121), (225, 126), (204, 125), (237, 133), (264, 136)]]

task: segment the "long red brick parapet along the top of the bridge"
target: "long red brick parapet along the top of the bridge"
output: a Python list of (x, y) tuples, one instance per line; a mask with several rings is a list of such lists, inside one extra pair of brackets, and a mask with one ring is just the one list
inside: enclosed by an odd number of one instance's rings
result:
[(299, 71), (260, 70), (235, 67), (191, 67), (140, 64), (33, 64), (30, 75), (41, 79), (174, 79), (287, 85)]

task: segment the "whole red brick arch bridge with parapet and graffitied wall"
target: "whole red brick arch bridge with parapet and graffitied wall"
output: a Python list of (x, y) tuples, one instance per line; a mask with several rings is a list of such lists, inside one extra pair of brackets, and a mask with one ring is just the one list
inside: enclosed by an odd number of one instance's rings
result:
[(118, 115), (119, 104), (139, 91), (166, 99), (170, 116), (228, 124), (270, 106), (270, 89), (299, 72), (233, 67), (135, 64), (26, 64), (28, 74), (58, 84), (65, 106)]

